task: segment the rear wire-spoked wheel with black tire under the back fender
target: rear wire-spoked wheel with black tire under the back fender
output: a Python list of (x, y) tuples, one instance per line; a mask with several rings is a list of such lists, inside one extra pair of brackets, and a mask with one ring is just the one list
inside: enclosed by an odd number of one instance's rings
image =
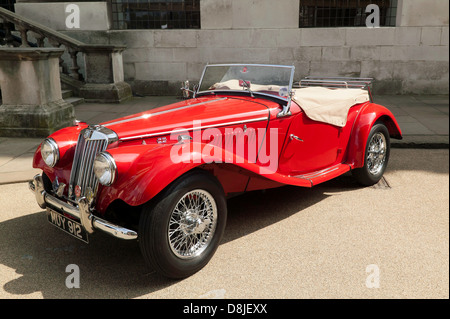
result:
[[(377, 141), (381, 141), (384, 144), (380, 147), (380, 149), (384, 149), (384, 154), (381, 151), (378, 151), (378, 153), (375, 151), (374, 146), (378, 145)], [(372, 186), (380, 181), (389, 162), (390, 149), (391, 141), (388, 129), (383, 123), (376, 123), (370, 130), (367, 138), (364, 166), (352, 171), (353, 176), (361, 185)], [(378, 162), (374, 160), (374, 156), (378, 156)], [(383, 157), (382, 160), (380, 159), (381, 157)], [(377, 162), (378, 165), (374, 165), (374, 162)]]

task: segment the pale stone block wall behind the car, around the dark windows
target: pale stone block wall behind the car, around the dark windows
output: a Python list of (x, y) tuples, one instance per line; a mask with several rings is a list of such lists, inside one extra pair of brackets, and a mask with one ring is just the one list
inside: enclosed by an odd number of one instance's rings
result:
[(299, 29), (299, 1), (202, 0), (201, 30), (65, 32), (87, 43), (125, 44), (125, 81), (143, 95), (177, 93), (206, 63), (228, 62), (293, 64), (296, 80), (373, 77), (377, 93), (448, 93), (448, 1), (399, 0), (397, 27), (377, 29)]

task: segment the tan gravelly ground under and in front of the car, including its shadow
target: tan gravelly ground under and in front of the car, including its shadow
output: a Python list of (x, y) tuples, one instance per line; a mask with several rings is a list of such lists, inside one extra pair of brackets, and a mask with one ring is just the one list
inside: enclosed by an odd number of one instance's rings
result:
[(0, 185), (0, 298), (449, 298), (449, 151), (393, 149), (385, 177), (229, 200), (221, 246), (181, 281), (147, 270), (134, 242), (69, 237), (25, 183)]

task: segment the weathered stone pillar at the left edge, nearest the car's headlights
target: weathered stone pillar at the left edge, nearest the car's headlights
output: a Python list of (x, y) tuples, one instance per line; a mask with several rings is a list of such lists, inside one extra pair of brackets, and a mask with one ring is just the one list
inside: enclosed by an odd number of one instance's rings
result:
[(61, 95), (57, 48), (0, 48), (0, 136), (46, 137), (70, 126), (72, 104)]

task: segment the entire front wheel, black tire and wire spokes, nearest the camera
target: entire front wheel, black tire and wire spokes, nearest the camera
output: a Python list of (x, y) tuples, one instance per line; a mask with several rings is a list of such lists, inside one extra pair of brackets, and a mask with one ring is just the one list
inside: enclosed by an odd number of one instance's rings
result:
[(203, 171), (183, 175), (143, 207), (139, 245), (146, 264), (169, 278), (191, 276), (214, 255), (226, 219), (226, 198), (216, 178)]

